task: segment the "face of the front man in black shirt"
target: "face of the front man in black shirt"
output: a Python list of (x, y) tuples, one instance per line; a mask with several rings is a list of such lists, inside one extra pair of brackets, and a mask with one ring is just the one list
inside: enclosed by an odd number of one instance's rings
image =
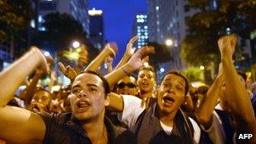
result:
[(90, 73), (78, 75), (72, 84), (70, 99), (72, 114), (78, 120), (94, 120), (104, 115), (106, 99), (103, 81)]

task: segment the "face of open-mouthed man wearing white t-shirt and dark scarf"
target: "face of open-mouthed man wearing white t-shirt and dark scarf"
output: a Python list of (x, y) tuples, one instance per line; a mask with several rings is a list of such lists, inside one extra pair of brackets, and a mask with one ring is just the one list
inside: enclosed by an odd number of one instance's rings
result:
[(185, 99), (185, 80), (175, 74), (168, 74), (158, 89), (157, 104), (163, 113), (172, 113), (179, 109)]

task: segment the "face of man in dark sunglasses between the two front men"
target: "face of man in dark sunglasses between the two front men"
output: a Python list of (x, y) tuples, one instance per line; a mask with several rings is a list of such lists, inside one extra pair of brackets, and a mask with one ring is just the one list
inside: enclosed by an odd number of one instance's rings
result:
[(123, 77), (118, 83), (116, 93), (136, 95), (136, 79), (134, 77)]

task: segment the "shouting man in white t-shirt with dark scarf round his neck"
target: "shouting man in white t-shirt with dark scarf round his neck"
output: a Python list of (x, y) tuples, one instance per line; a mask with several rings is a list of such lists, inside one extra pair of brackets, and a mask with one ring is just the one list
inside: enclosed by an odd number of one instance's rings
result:
[(168, 72), (157, 90), (157, 99), (152, 100), (147, 109), (141, 107), (141, 99), (123, 95), (120, 100), (115, 93), (110, 94), (109, 107), (123, 111), (119, 118), (129, 126), (131, 132), (126, 134), (133, 134), (136, 143), (200, 143), (216, 140), (220, 143), (221, 136), (215, 129), (217, 120), (213, 119), (209, 130), (205, 131), (216, 135), (214, 140), (211, 136), (200, 139), (200, 127), (179, 109), (187, 99), (188, 89), (186, 77), (179, 72)]

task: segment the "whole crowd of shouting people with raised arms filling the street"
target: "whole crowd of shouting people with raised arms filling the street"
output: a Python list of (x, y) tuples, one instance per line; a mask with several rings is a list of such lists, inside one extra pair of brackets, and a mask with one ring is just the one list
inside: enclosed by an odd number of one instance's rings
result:
[[(236, 35), (216, 41), (218, 74), (199, 88), (173, 70), (157, 83), (147, 62), (154, 47), (135, 51), (136, 40), (128, 42), (116, 67), (115, 43), (105, 45), (85, 68), (84, 50), (77, 67), (59, 62), (71, 83), (55, 91), (54, 81), (38, 84), (51, 73), (52, 57), (32, 46), (0, 73), (0, 143), (256, 143), (256, 84), (248, 85), (233, 65)], [(102, 76), (104, 62), (108, 73)]]

